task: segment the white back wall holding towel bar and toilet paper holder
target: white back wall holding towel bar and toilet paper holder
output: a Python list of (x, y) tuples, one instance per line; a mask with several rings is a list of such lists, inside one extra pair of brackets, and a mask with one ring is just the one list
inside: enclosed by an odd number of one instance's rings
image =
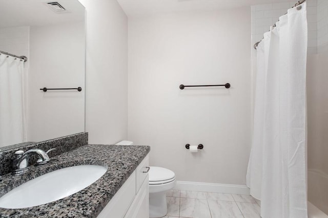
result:
[(245, 184), (250, 41), (250, 8), (129, 18), (129, 140), (151, 146), (151, 165), (177, 180)]

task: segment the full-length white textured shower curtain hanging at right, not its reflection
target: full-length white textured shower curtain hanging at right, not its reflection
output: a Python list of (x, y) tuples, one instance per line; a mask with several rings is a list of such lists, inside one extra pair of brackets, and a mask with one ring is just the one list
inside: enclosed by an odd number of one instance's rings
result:
[(306, 3), (279, 20), (257, 47), (247, 185), (262, 218), (306, 218)]

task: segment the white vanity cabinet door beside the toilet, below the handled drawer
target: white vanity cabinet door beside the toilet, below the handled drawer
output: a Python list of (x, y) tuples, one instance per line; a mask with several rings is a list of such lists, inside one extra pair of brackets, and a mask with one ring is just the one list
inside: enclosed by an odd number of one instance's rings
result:
[(142, 183), (137, 196), (133, 200), (125, 218), (146, 218), (149, 217), (149, 181), (148, 175)]

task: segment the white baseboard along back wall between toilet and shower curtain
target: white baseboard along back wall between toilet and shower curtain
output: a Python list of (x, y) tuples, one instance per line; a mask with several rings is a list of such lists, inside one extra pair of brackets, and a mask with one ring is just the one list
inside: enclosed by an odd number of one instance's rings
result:
[(250, 195), (250, 189), (245, 185), (176, 181), (174, 189)]

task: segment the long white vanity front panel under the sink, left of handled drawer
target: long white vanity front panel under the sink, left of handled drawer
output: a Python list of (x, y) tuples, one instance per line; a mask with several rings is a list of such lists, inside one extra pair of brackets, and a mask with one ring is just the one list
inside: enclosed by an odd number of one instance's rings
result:
[(135, 197), (135, 179), (136, 173), (134, 171), (122, 187), (116, 192), (106, 207), (101, 210), (97, 218), (124, 217)]

